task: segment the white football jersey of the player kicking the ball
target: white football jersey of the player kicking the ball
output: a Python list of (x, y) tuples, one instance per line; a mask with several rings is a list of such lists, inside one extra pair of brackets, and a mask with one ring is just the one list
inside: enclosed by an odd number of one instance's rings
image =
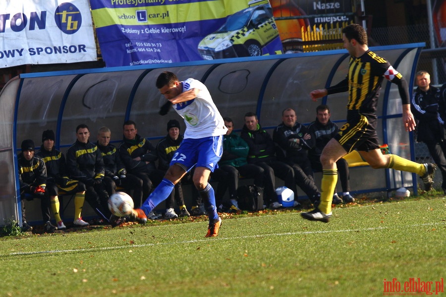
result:
[(173, 105), (173, 109), (184, 119), (184, 138), (203, 138), (226, 134), (223, 117), (212, 101), (208, 88), (199, 80), (188, 78), (182, 81), (183, 92), (198, 89), (200, 92), (192, 100)]

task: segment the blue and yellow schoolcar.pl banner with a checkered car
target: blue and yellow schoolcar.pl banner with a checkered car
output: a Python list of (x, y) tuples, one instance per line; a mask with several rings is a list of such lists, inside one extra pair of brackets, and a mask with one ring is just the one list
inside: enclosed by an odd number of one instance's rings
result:
[[(108, 67), (282, 53), (268, 0), (90, 0), (90, 5)], [(238, 15), (232, 28), (216, 33), (230, 15)]]

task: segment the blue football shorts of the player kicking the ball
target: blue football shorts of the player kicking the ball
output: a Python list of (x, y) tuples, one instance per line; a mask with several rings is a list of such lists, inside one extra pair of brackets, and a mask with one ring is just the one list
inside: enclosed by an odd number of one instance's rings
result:
[(195, 167), (208, 168), (214, 172), (223, 154), (223, 135), (183, 139), (175, 151), (170, 166), (178, 164), (185, 171)]

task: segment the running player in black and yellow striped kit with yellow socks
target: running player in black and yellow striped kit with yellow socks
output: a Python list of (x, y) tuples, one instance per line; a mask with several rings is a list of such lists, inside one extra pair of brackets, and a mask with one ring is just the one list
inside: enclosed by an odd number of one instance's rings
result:
[(329, 222), (332, 216), (333, 192), (337, 182), (336, 161), (357, 150), (362, 158), (376, 168), (391, 168), (416, 173), (423, 182), (432, 183), (434, 164), (419, 164), (397, 155), (381, 153), (376, 133), (376, 108), (381, 84), (388, 79), (398, 86), (402, 101), (402, 119), (406, 131), (415, 128), (415, 119), (410, 111), (409, 90), (406, 80), (390, 63), (370, 51), (367, 33), (358, 24), (342, 29), (344, 48), (350, 54), (346, 78), (327, 89), (310, 92), (313, 101), (318, 98), (348, 91), (347, 122), (335, 137), (329, 141), (321, 155), (322, 183), (321, 202), (316, 209), (302, 213), (302, 217), (312, 221)]

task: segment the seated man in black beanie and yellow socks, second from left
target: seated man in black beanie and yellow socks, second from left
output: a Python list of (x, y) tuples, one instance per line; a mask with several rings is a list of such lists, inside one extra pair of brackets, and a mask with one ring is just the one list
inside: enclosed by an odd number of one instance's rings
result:
[(67, 195), (74, 195), (74, 222), (76, 226), (88, 226), (82, 220), (81, 212), (85, 200), (85, 184), (74, 179), (69, 179), (66, 172), (65, 156), (56, 150), (54, 142), (56, 140), (53, 130), (45, 130), (42, 133), (42, 146), (36, 156), (42, 158), (47, 167), (47, 187), (46, 192), (50, 196), (51, 210), (56, 219), (57, 230), (65, 230), (59, 213), (59, 189)]

